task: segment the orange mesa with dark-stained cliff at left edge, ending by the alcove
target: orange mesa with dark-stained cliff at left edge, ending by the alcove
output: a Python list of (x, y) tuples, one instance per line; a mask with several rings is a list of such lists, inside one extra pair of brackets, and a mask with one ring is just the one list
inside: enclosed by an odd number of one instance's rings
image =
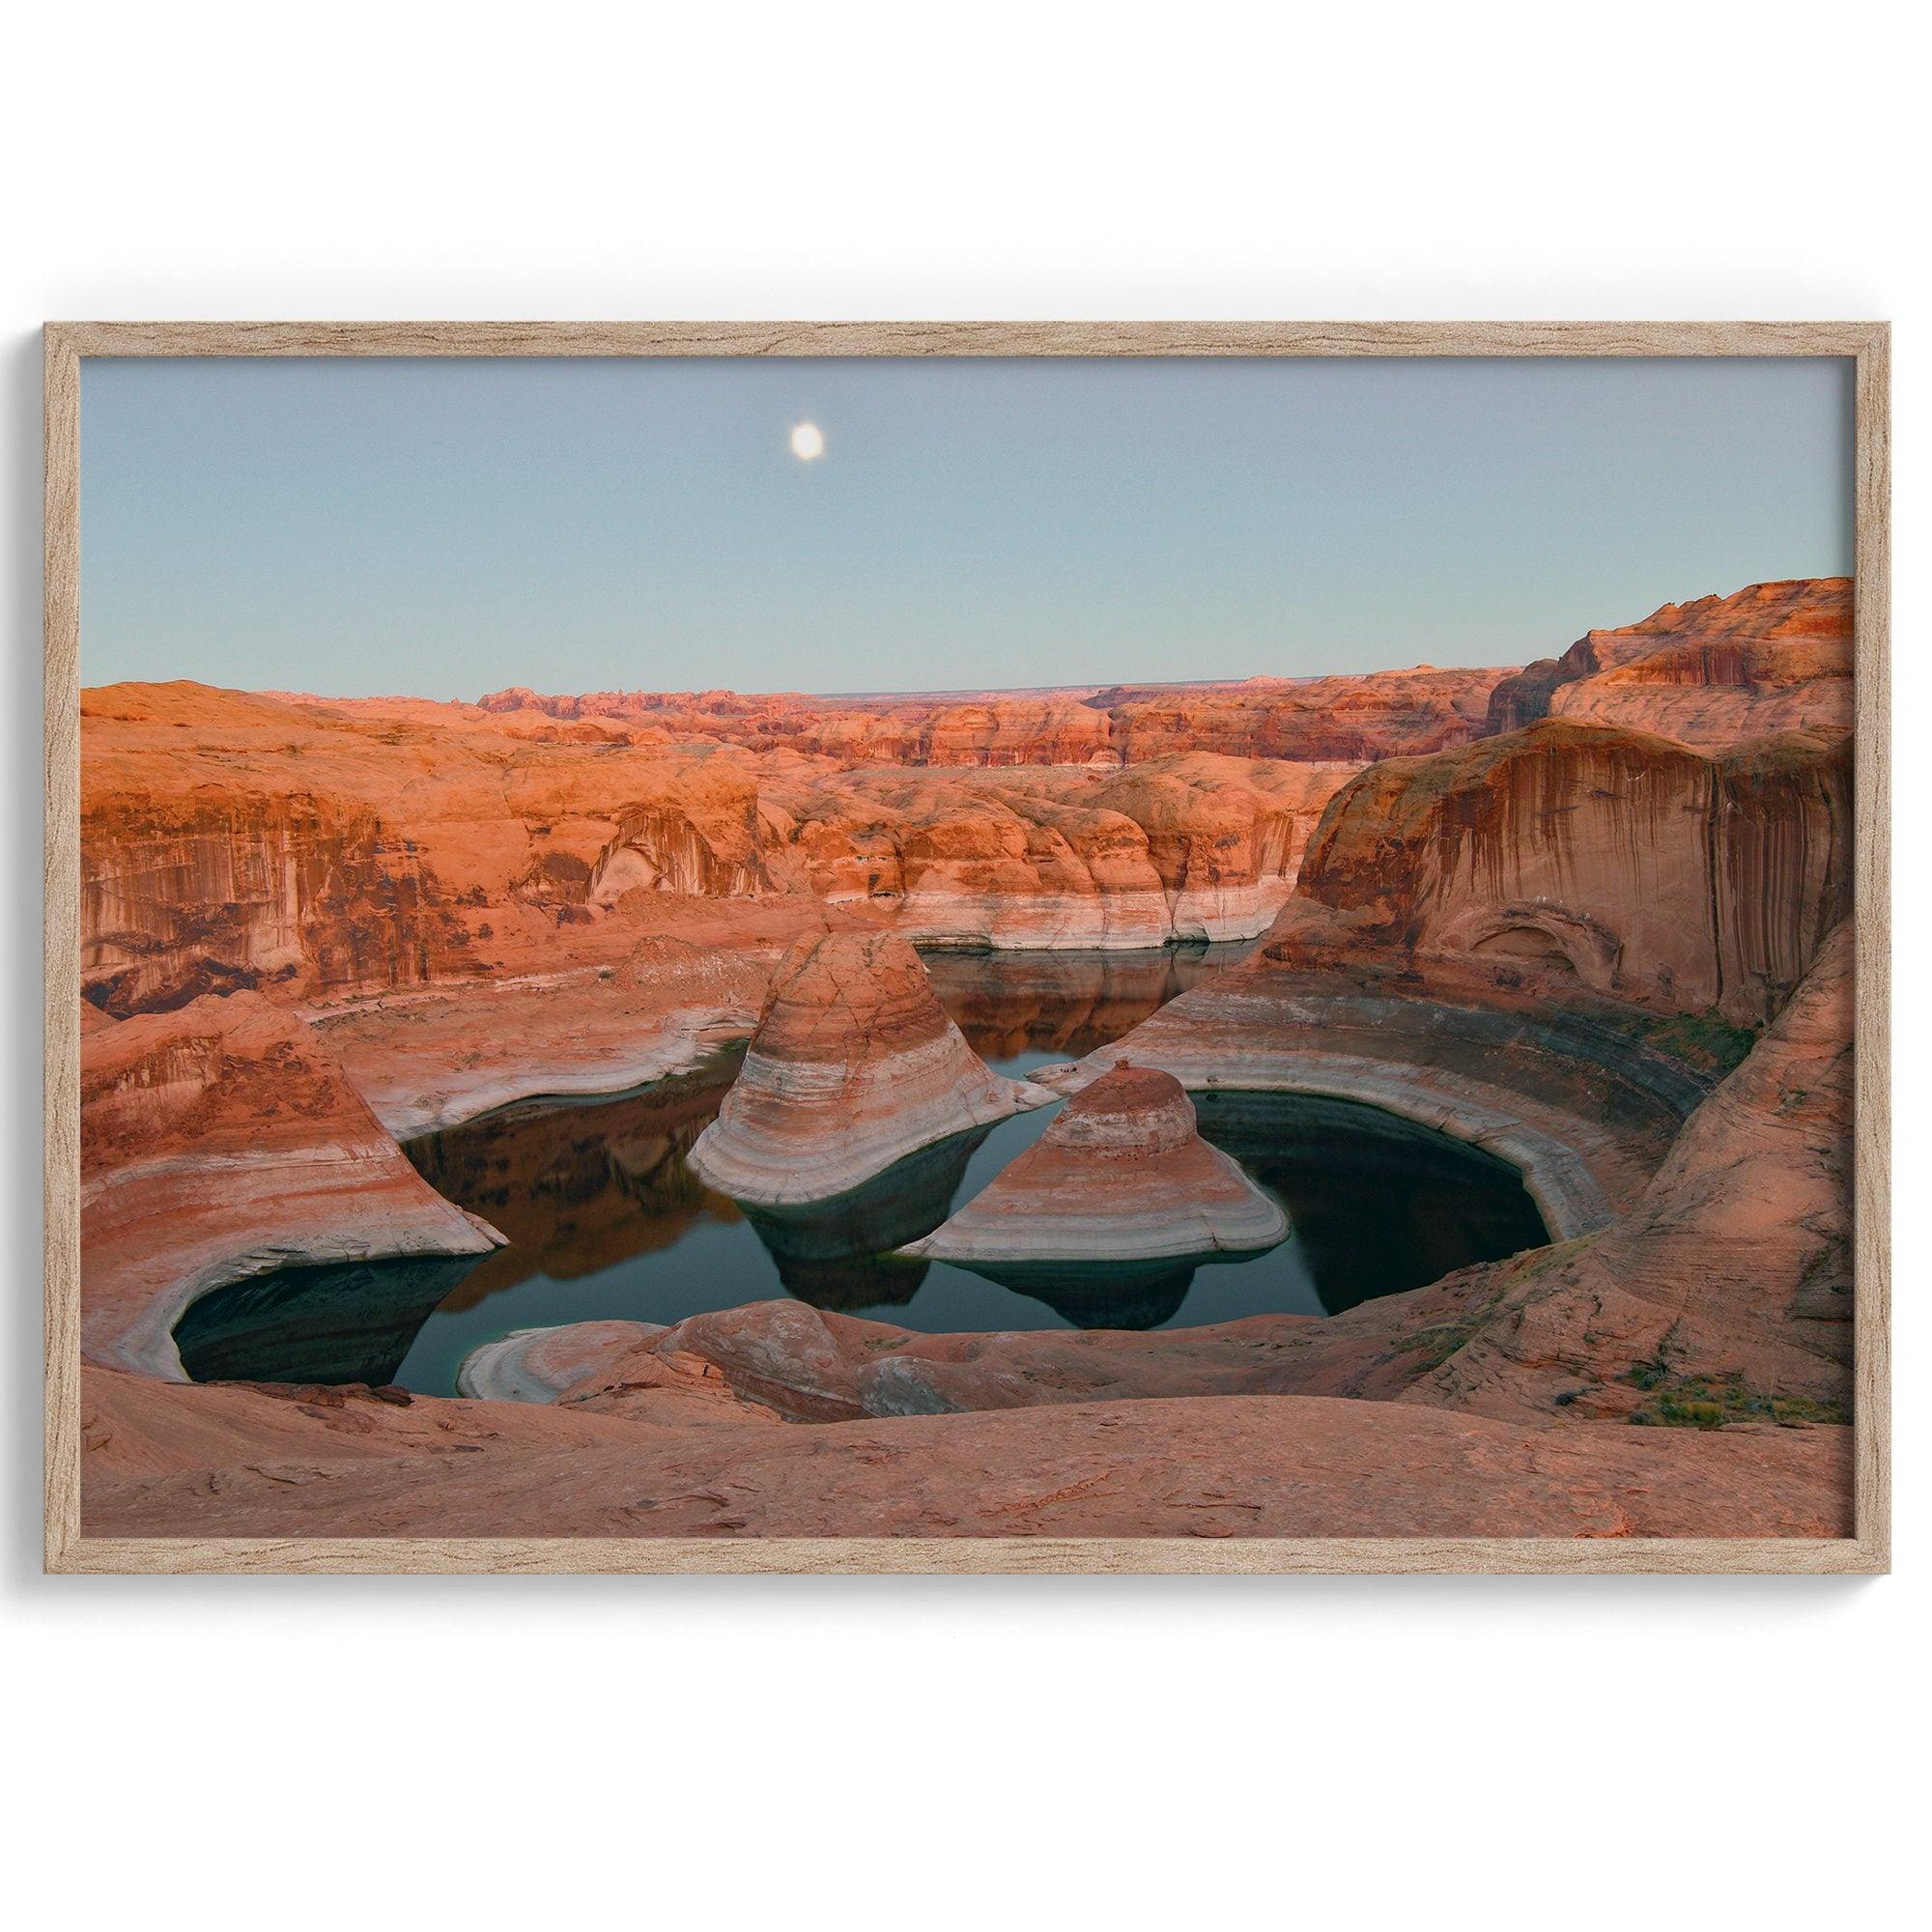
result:
[[(665, 883), (755, 848), (732, 753), (529, 746), (489, 721), (286, 705), (197, 684), (81, 701), (81, 976), (110, 1012), (622, 958), (587, 906), (620, 813), (661, 808)], [(427, 707), (452, 713), (456, 707)]]

